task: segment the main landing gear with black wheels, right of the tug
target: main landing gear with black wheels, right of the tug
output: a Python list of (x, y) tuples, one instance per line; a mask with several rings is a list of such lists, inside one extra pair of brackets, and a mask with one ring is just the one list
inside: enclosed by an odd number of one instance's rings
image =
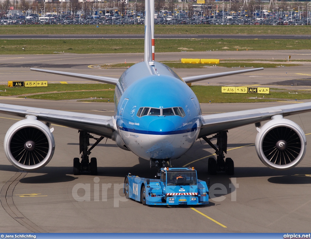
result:
[[(214, 158), (208, 159), (208, 168), (207, 171), (211, 175), (216, 175), (217, 172), (224, 171), (228, 175), (234, 175), (234, 162), (231, 158), (226, 158), (224, 153), (227, 153), (227, 132), (221, 131), (218, 132), (211, 138), (202, 137), (213, 149), (217, 155), (217, 161)], [(211, 139), (217, 138), (218, 148), (211, 143)]]

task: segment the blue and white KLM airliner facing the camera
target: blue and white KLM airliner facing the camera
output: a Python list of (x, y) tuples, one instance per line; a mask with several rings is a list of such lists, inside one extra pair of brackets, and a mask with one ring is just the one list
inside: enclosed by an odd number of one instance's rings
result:
[[(225, 159), (224, 155), (228, 130), (255, 124), (258, 131), (255, 148), (263, 164), (278, 170), (298, 165), (306, 151), (306, 137), (298, 124), (284, 117), (311, 111), (311, 102), (202, 115), (199, 101), (188, 83), (263, 68), (179, 77), (168, 66), (154, 61), (154, 23), (151, 21), (154, 0), (145, 0), (145, 6), (144, 61), (125, 70), (119, 79), (30, 69), (114, 84), (114, 116), (0, 104), (1, 113), (25, 117), (13, 124), (4, 138), (5, 154), (11, 164), (24, 171), (47, 165), (55, 149), (53, 128), (50, 127), (59, 124), (80, 132), (82, 154), (81, 160), (77, 157), (73, 160), (74, 175), (97, 174), (97, 160), (90, 160), (89, 155), (104, 138), (150, 160), (150, 166), (158, 169), (171, 165), (171, 160), (178, 160), (202, 138), (216, 152), (217, 159), (208, 159), (208, 173), (214, 175), (224, 171), (233, 175), (234, 162), (231, 158)], [(266, 120), (269, 121), (261, 125)], [(89, 148), (90, 138), (96, 142)], [(216, 146), (211, 142), (214, 138), (217, 139)]]

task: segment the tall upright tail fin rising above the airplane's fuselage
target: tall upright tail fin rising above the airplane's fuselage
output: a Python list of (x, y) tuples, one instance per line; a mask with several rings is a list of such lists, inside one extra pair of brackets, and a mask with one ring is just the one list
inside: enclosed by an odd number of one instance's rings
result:
[(150, 0), (145, 0), (145, 61), (152, 61)]

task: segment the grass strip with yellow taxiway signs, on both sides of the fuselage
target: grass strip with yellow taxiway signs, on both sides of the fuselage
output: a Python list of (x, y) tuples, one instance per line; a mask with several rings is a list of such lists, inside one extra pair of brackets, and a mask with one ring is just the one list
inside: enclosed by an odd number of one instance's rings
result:
[[(110, 90), (109, 90), (110, 88)], [(240, 102), (267, 102), (283, 100), (311, 99), (310, 91), (297, 91), (298, 94), (289, 94), (287, 89), (270, 88), (270, 94), (231, 94), (221, 93), (221, 86), (192, 86), (200, 103), (240, 103)], [(45, 100), (70, 100), (114, 102), (114, 85), (110, 84), (49, 84), (42, 88), (9, 88), (0, 85), (1, 96), (19, 96), (24, 98)], [(39, 94), (35, 94), (39, 93)], [(30, 95), (29, 95), (30, 94)], [(31, 95), (32, 94), (32, 95)], [(265, 96), (263, 98), (263, 96)], [(89, 99), (89, 98), (96, 99)], [(251, 99), (257, 97), (257, 99)], [(102, 99), (100, 99), (102, 98)]]

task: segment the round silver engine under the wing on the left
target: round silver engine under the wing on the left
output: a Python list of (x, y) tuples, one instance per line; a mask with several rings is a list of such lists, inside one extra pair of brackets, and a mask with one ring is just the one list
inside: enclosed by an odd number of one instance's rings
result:
[(16, 168), (33, 171), (47, 165), (51, 160), (55, 142), (49, 129), (35, 116), (27, 116), (7, 131), (4, 138), (4, 152)]

